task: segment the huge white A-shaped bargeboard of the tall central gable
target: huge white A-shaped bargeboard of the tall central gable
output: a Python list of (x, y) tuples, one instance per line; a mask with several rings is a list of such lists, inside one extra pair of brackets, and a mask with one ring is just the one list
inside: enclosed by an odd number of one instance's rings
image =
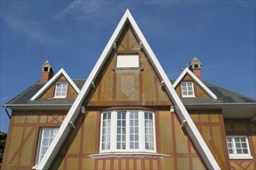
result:
[(192, 139), (195, 148), (197, 148), (197, 151), (199, 151), (199, 154), (201, 155), (203, 162), (205, 162), (207, 168), (220, 169), (219, 165), (216, 163), (216, 160), (213, 158), (212, 153), (209, 151), (209, 148), (207, 147), (205, 141), (202, 139), (201, 134), (195, 127), (195, 124), (193, 123), (191, 117), (189, 116), (189, 113), (182, 104), (182, 101), (179, 99), (177, 93), (175, 92), (175, 89), (172, 87), (170, 80), (168, 80), (168, 76), (164, 73), (161, 64), (158, 62), (157, 57), (154, 55), (152, 49), (147, 43), (147, 40), (144, 38), (142, 32), (140, 31), (139, 27), (137, 26), (137, 23), (133, 19), (133, 16), (130, 14), (128, 9), (126, 10), (125, 14), (123, 15), (123, 18), (120, 20), (118, 26), (113, 32), (111, 38), (109, 39), (109, 42), (107, 43), (94, 68), (92, 69), (92, 72), (89, 74), (88, 80), (85, 82), (84, 87), (82, 87), (81, 93), (78, 94), (78, 97), (74, 101), (74, 104), (72, 105), (71, 109), (68, 111), (67, 116), (64, 119), (64, 122), (61, 124), (61, 128), (57, 132), (54, 140), (50, 144), (50, 147), (48, 148), (46, 154), (44, 155), (42, 161), (36, 169), (47, 169), (50, 167), (52, 161), (55, 158), (55, 155), (57, 155), (57, 152), (61, 148), (61, 145), (63, 145), (63, 142), (71, 129), (70, 122), (74, 122), (78, 117), (78, 114), (81, 110), (81, 104), (85, 100), (85, 97), (88, 95), (88, 92), (92, 87), (92, 83), (94, 83), (100, 70), (102, 70), (102, 66), (106, 62), (106, 59), (113, 48), (114, 42), (117, 41), (117, 39), (123, 31), (123, 28), (126, 26), (126, 22), (130, 22), (130, 26), (133, 29), (135, 35), (137, 36), (139, 42), (142, 43), (144, 51), (147, 54), (150, 63), (154, 67), (155, 72), (162, 80), (162, 82), (164, 82), (164, 88), (175, 105), (175, 111), (178, 114), (179, 119), (181, 121), (187, 122), (185, 125), (185, 129), (188, 132), (189, 137)]

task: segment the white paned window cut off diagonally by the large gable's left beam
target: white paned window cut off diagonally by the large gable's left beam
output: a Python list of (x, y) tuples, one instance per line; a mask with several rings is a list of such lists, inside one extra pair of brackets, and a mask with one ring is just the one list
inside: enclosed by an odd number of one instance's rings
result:
[(36, 152), (36, 164), (39, 164), (39, 162), (42, 160), (50, 146), (50, 143), (54, 140), (58, 129), (59, 128), (40, 128), (40, 136)]

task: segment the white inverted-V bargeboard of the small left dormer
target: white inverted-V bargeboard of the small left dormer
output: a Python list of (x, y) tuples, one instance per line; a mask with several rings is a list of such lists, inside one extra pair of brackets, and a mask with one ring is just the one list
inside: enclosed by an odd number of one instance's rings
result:
[(71, 80), (71, 78), (67, 75), (67, 73), (65, 72), (64, 69), (61, 68), (61, 70), (59, 70), (32, 98), (31, 100), (36, 100), (38, 97), (40, 97), (40, 95), (42, 95), (53, 83), (55, 83), (57, 81), (57, 79), (63, 75), (68, 83), (71, 84), (71, 86), (74, 88), (74, 90), (77, 93), (80, 93), (80, 90), (78, 89), (77, 85), (75, 85), (75, 83), (73, 82), (73, 80)]

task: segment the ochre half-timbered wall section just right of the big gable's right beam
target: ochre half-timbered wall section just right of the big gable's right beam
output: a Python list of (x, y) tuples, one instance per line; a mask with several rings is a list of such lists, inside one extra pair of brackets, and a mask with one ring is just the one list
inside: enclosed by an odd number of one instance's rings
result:
[(189, 115), (221, 169), (230, 169), (221, 110), (188, 110)]

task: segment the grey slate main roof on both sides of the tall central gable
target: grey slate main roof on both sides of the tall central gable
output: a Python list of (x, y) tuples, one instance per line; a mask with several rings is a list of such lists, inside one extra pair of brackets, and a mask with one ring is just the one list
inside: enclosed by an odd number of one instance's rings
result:
[[(73, 80), (74, 83), (78, 86), (81, 90), (83, 85), (85, 84), (85, 80)], [(171, 83), (174, 83), (175, 80), (171, 80)], [(37, 100), (30, 100), (35, 93), (43, 87), (46, 82), (37, 81), (31, 87), (24, 90), (18, 96), (14, 97), (10, 100), (7, 105), (9, 104), (73, 104), (74, 99), (37, 99)], [(182, 103), (185, 106), (189, 105), (212, 105), (212, 104), (256, 104), (256, 100), (246, 97), (240, 93), (235, 93), (233, 91), (227, 90), (223, 87), (218, 87), (212, 83), (208, 83), (203, 81), (206, 87), (209, 90), (212, 90), (213, 93), (216, 95), (217, 99), (213, 98), (182, 98)]]

